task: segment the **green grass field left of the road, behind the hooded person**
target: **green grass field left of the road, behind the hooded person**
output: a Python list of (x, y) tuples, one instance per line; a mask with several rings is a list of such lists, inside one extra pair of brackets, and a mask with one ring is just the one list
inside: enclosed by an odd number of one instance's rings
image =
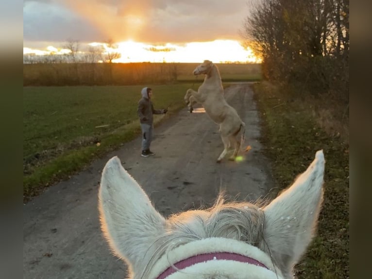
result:
[[(184, 95), (194, 84), (150, 86), (154, 124), (186, 107)], [(23, 199), (84, 169), (93, 159), (140, 134), (137, 103), (144, 86), (24, 87)]]

